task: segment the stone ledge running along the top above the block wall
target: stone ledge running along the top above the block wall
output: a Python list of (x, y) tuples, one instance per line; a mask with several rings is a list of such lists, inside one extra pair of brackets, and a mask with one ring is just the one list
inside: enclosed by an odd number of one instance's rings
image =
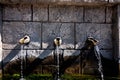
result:
[(0, 0), (1, 4), (67, 4), (67, 5), (95, 5), (106, 3), (120, 3), (120, 0)]

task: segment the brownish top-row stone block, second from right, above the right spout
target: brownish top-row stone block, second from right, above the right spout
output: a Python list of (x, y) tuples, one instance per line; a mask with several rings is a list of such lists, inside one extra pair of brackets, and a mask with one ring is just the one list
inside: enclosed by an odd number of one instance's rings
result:
[(105, 7), (86, 7), (85, 22), (105, 22)]

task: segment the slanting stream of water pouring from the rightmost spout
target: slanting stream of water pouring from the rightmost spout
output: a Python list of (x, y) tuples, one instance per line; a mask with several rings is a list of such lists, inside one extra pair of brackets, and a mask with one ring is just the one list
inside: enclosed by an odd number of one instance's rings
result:
[(103, 75), (103, 71), (102, 71), (102, 62), (101, 62), (101, 56), (100, 56), (100, 51), (98, 46), (94, 46), (94, 52), (95, 52), (95, 56), (98, 59), (98, 71), (101, 74), (101, 80), (104, 80), (104, 75)]

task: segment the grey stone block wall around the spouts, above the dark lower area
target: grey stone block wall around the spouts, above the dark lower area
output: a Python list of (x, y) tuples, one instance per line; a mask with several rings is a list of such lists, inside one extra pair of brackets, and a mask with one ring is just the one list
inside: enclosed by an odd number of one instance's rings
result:
[(40, 59), (50, 56), (54, 50), (53, 40), (58, 36), (63, 40), (64, 57), (79, 55), (87, 37), (92, 36), (99, 40), (103, 57), (113, 60), (113, 9), (114, 6), (100, 5), (2, 5), (3, 68), (19, 58), (18, 41), (25, 34), (31, 37), (23, 51), (24, 54), (27, 51), (28, 56)]

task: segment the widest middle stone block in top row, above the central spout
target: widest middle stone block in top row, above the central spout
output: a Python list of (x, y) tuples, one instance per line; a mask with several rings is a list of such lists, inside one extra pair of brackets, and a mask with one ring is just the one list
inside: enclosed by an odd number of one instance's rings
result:
[(83, 22), (83, 8), (77, 6), (50, 6), (49, 20), (55, 22)]

